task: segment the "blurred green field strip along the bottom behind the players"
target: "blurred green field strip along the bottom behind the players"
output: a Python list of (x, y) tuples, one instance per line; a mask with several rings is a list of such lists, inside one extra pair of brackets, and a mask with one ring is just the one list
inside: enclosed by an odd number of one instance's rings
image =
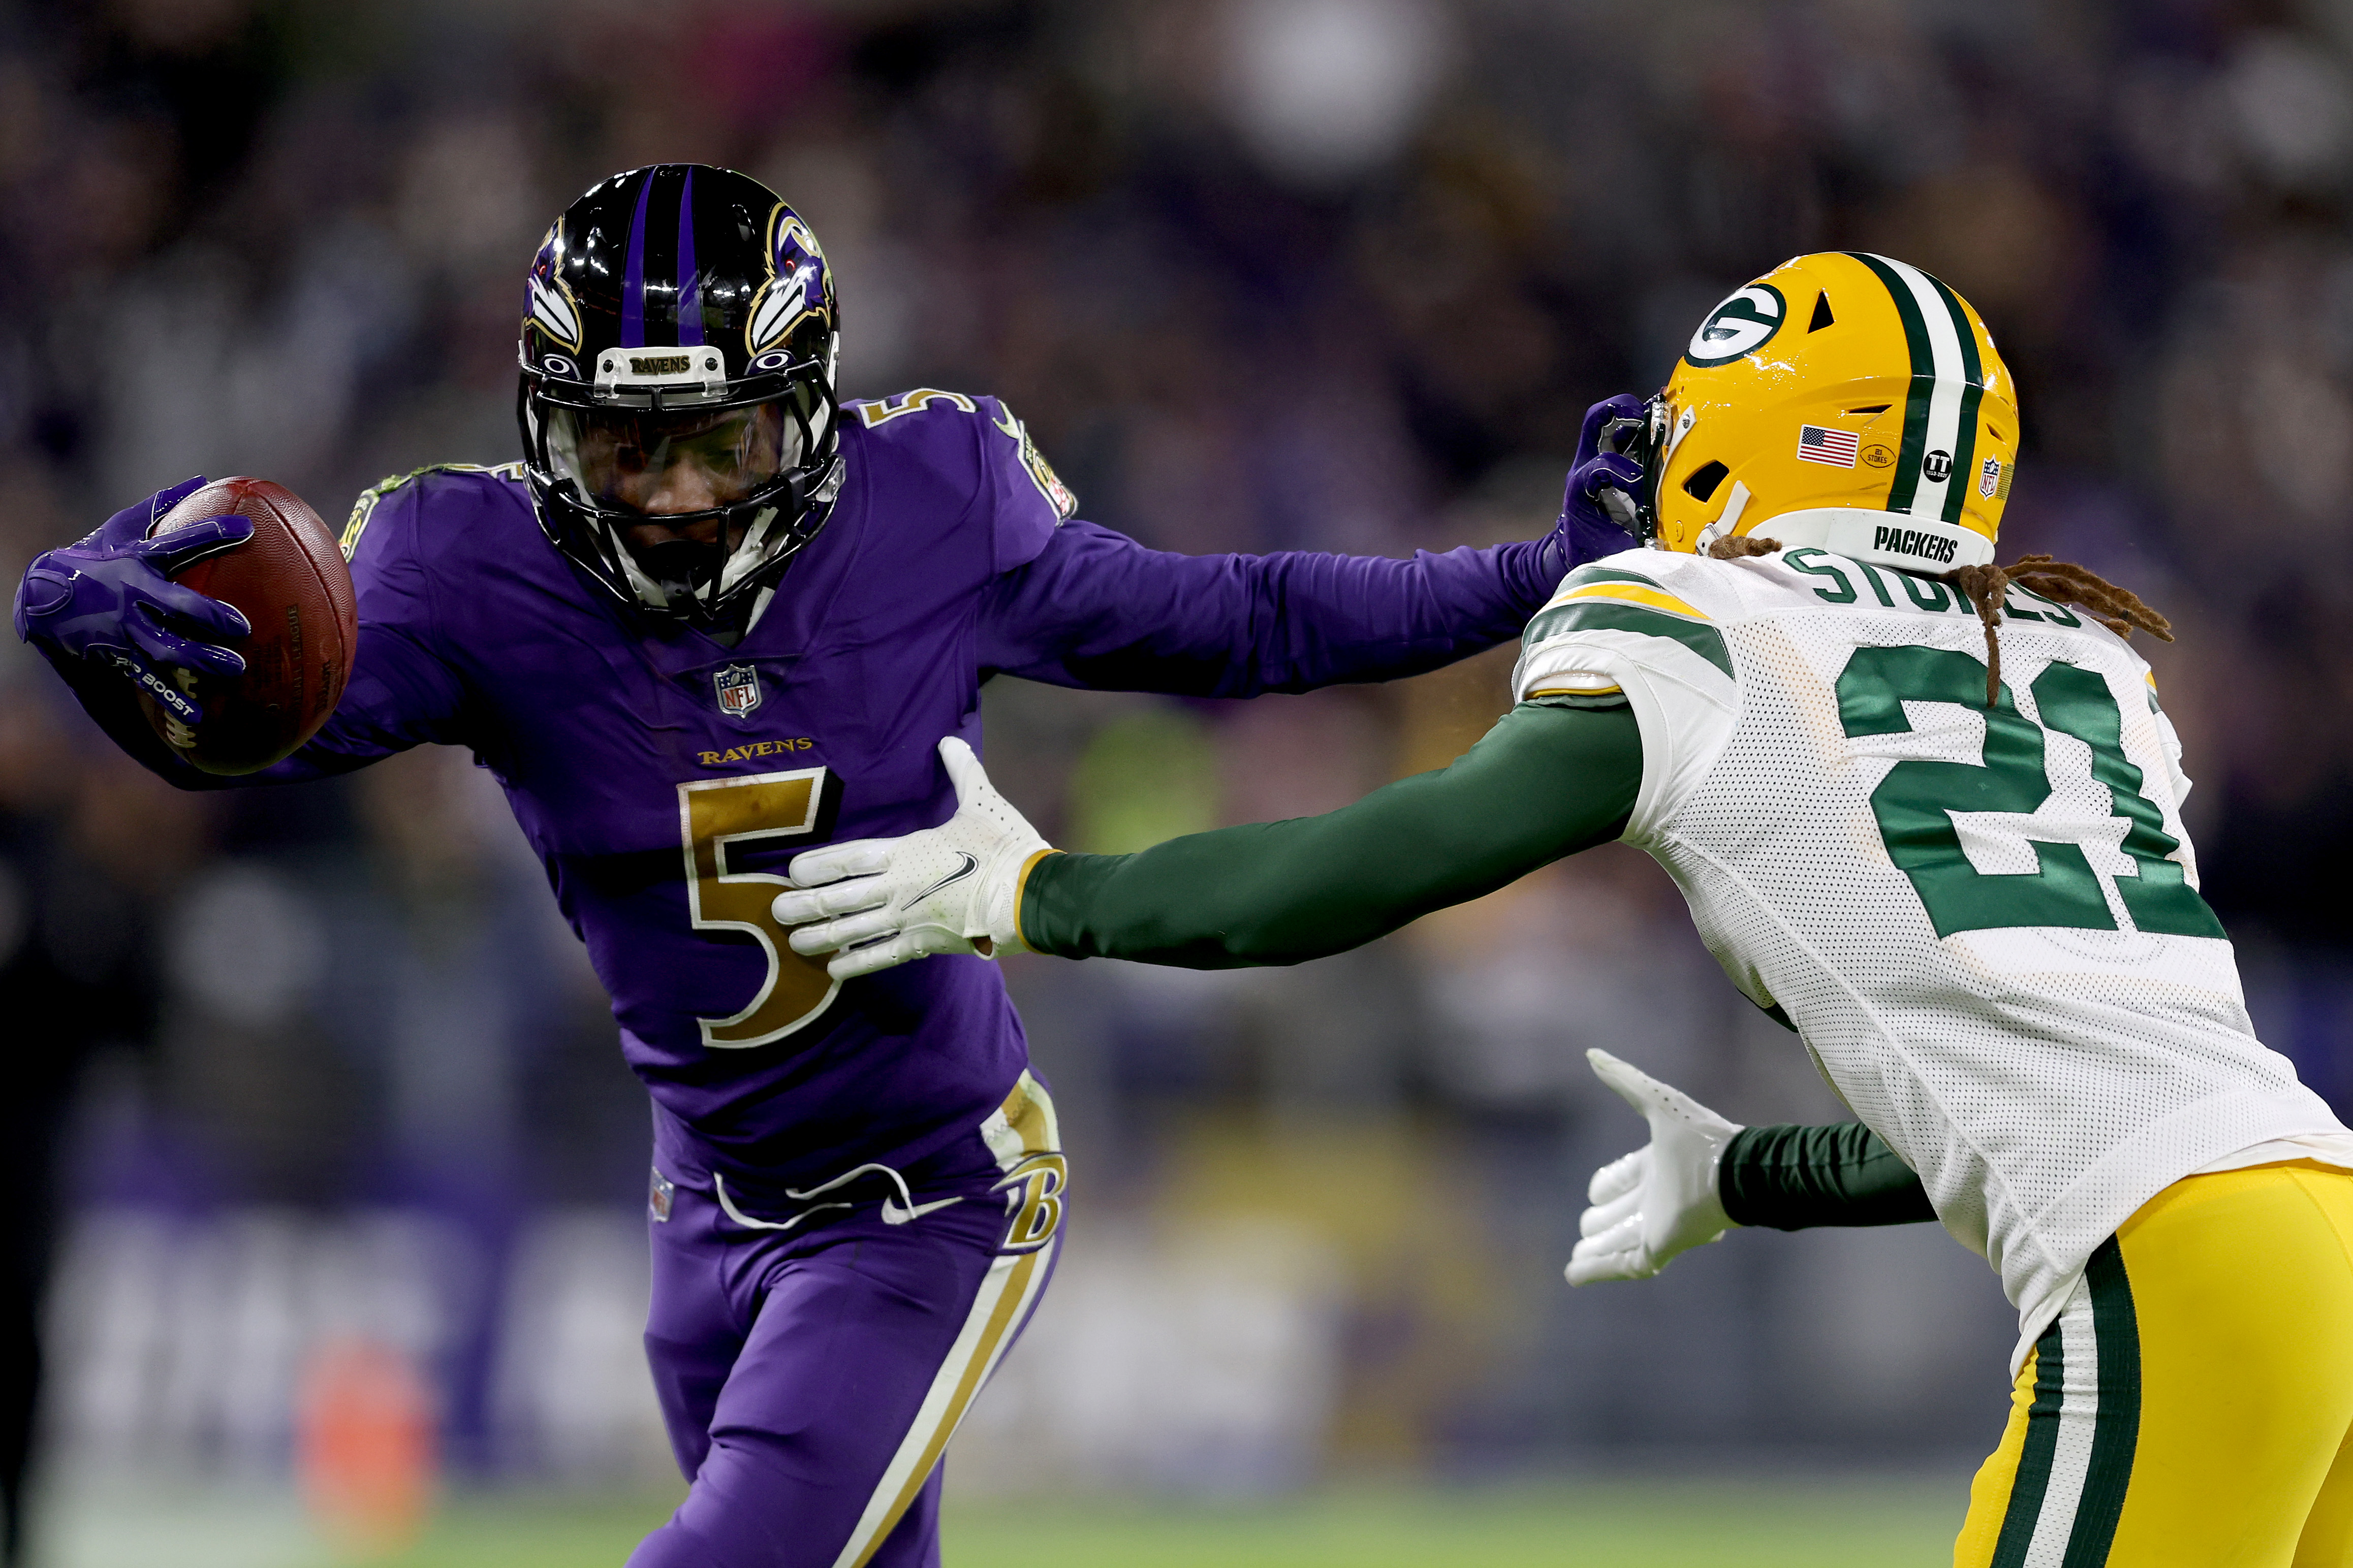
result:
[[(1235, 1505), (953, 1500), (948, 1568), (1932, 1568), (1960, 1479), (1362, 1486)], [(671, 1500), (459, 1497), (369, 1568), (619, 1568)], [(344, 1568), (282, 1500), (153, 1495), (56, 1509), (35, 1568)]]

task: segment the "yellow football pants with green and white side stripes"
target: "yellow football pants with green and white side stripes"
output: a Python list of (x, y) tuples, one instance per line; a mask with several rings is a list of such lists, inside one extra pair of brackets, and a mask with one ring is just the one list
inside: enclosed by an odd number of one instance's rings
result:
[(2353, 1568), (2353, 1173), (2148, 1199), (2009, 1403), (1955, 1568)]

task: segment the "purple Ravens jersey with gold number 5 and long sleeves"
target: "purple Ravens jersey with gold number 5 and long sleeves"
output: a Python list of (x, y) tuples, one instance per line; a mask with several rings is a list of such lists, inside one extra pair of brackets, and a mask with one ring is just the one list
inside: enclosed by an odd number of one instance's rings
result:
[(360, 654), (275, 778), (471, 748), (506, 785), (612, 992), (673, 1175), (805, 1185), (908, 1164), (1021, 1074), (998, 969), (932, 957), (833, 983), (769, 917), (786, 863), (955, 811), (936, 743), (995, 672), (1252, 696), (1464, 658), (1551, 592), (1539, 545), (1414, 559), (1186, 557), (1064, 522), (991, 397), (847, 404), (847, 480), (739, 646), (656, 630), (539, 531), (518, 470), (424, 470), (344, 536)]

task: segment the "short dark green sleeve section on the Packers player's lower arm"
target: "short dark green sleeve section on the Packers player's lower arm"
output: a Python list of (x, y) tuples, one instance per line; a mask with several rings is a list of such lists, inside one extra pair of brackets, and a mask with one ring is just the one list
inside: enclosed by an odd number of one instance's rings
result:
[(1734, 1222), (1772, 1229), (1937, 1218), (1911, 1166), (1859, 1121), (1741, 1128), (1715, 1166), (1715, 1194)]

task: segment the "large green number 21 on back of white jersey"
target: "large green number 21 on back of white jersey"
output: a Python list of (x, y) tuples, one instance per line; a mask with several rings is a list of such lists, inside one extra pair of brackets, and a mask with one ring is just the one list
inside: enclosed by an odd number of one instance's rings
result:
[[(2165, 813), (2141, 792), (2141, 769), (2125, 759), (2122, 715), (2108, 682), (2071, 663), (2052, 663), (2028, 691), (2040, 724), (2009, 698), (1986, 710), (1986, 665), (1951, 649), (1857, 649), (1838, 677), (1838, 717), (1847, 736), (1911, 733), (1904, 703), (1962, 703), (1986, 719), (1984, 762), (1906, 759), (1871, 792), (1887, 856), (1897, 863), (1937, 936), (2005, 926), (2073, 926), (2115, 931), (2101, 879), (2078, 842), (2042, 842), (2017, 816), (2052, 797), (2045, 771), (2049, 733), (2092, 748), (2092, 778), (2108, 788), (2125, 818), (2118, 849), (2137, 877), (2115, 877), (2132, 924), (2162, 936), (2224, 936), (2214, 910), (2188, 884), (2177, 860), (2181, 842), (2165, 832)], [(1960, 846), (1953, 811), (1998, 811), (2033, 846), (2033, 872), (1979, 872)]]

